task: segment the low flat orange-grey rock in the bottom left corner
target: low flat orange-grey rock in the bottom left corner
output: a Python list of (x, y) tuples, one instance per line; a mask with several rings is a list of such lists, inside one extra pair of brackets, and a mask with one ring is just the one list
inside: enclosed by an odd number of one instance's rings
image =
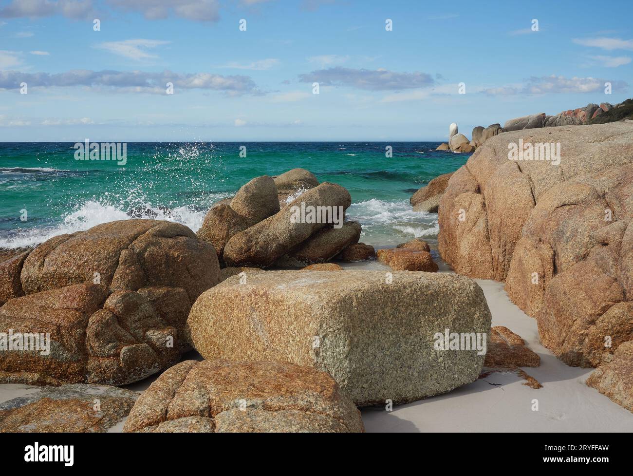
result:
[(130, 413), (137, 398), (136, 392), (109, 385), (42, 387), (0, 403), (0, 432), (107, 432)]

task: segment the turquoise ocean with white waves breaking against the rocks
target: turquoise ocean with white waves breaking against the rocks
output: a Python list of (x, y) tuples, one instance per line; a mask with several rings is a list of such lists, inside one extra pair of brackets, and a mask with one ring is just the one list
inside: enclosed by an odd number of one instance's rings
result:
[(414, 212), (409, 198), (469, 156), (436, 151), (440, 143), (128, 142), (127, 163), (120, 166), (75, 160), (70, 142), (0, 142), (0, 248), (34, 246), (129, 218), (172, 220), (195, 232), (213, 203), (251, 178), (296, 167), (348, 189), (348, 218), (363, 226), (361, 241), (435, 242), (437, 214)]

